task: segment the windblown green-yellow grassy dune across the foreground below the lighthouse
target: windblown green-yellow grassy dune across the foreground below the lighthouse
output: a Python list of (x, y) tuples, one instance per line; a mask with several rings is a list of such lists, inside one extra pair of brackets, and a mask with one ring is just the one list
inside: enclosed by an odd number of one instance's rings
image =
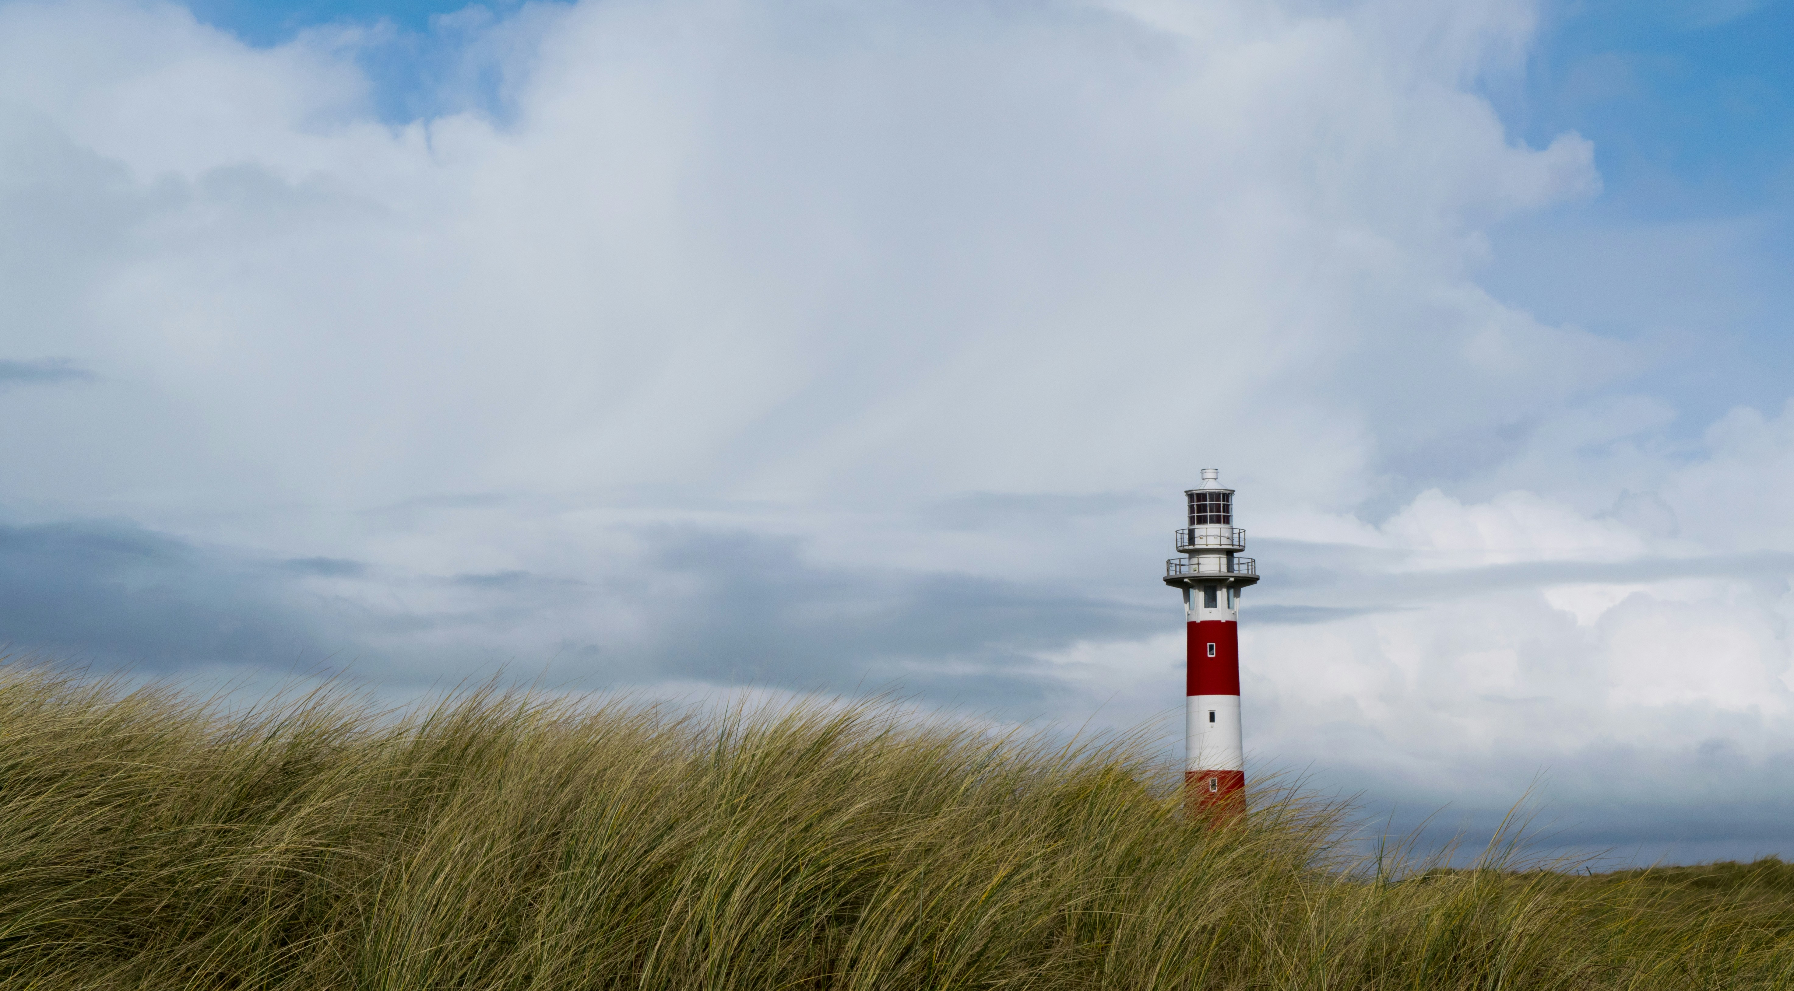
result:
[(0, 987), (1794, 987), (1774, 860), (1380, 880), (1337, 808), (1209, 830), (1159, 781), (881, 708), (230, 715), (0, 668)]

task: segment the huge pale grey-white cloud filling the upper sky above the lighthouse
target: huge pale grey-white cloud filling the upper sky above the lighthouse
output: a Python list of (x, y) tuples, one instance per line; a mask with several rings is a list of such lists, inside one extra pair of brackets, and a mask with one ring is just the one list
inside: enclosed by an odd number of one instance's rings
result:
[[(90, 346), (179, 394), (267, 496), (621, 477), (947, 500), (1276, 446), (1344, 455), (1292, 491), (1351, 487), (1367, 444), (1625, 367), (1450, 262), (1478, 217), (1584, 195), (1586, 143), (1512, 145), (1450, 95), (1459, 66), (1385, 75), (1380, 22), (570, 7), (531, 22), (511, 127), (393, 131), (321, 39), (83, 9), (7, 7), (0, 84), (131, 177)], [(152, 99), (170, 86), (210, 116)], [(1197, 340), (1231, 369), (1211, 401), (1295, 401), (1191, 435), (1164, 373)]]

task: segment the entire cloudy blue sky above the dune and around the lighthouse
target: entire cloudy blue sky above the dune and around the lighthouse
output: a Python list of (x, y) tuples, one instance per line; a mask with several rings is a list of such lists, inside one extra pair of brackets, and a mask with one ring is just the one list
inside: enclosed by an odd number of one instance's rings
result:
[(1787, 4), (0, 0), (0, 640), (1794, 857)]

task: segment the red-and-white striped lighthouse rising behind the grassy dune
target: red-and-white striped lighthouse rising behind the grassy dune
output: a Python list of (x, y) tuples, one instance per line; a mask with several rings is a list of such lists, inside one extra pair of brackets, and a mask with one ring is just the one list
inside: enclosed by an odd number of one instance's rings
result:
[(1164, 584), (1184, 593), (1186, 699), (1184, 799), (1191, 814), (1238, 812), (1245, 788), (1240, 740), (1240, 590), (1258, 582), (1258, 563), (1240, 557), (1245, 530), (1232, 525), (1232, 489), (1220, 471), (1184, 491), (1188, 523), (1164, 563)]

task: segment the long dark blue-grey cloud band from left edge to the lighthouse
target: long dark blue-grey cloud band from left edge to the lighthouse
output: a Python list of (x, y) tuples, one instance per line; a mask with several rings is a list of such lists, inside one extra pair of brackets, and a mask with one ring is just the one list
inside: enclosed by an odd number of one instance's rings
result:
[[(522, 570), (382, 575), (337, 557), (258, 561), (129, 521), (0, 527), (0, 642), (50, 659), (147, 672), (194, 663), (292, 665), (337, 656), (466, 672), (492, 659), (551, 663), (588, 688), (687, 677), (791, 690), (890, 688), (1030, 715), (1067, 688), (1035, 651), (1137, 638), (1163, 609), (953, 572), (822, 566), (802, 541), (743, 530), (646, 527), (626, 573)], [(323, 593), (307, 582), (337, 582)], [(391, 590), (443, 590), (407, 604)], [(513, 629), (624, 609), (635, 636), (576, 638), (553, 656), (506, 651)], [(418, 647), (407, 636), (452, 636)], [(434, 667), (432, 667), (434, 665)]]

